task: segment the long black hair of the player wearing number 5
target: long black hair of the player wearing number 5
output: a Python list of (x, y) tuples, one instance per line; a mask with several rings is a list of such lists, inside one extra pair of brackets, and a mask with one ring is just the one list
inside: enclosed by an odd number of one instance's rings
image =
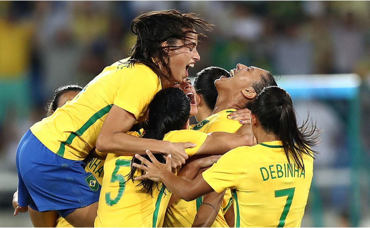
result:
[[(179, 88), (166, 88), (159, 91), (149, 104), (149, 123), (143, 138), (162, 140), (164, 135), (172, 130), (184, 129), (190, 115), (190, 102), (188, 97)], [(148, 156), (143, 156), (150, 160)], [(162, 154), (154, 154), (154, 157), (161, 163), (165, 163)], [(131, 171), (128, 180), (134, 181), (137, 168), (133, 163), (140, 164), (141, 161), (135, 157), (131, 160)], [(144, 171), (141, 170), (141, 175)], [(158, 188), (158, 183), (149, 179), (144, 179), (138, 186), (142, 186), (148, 194), (153, 193), (153, 187)], [(158, 188), (159, 190), (159, 188)]]

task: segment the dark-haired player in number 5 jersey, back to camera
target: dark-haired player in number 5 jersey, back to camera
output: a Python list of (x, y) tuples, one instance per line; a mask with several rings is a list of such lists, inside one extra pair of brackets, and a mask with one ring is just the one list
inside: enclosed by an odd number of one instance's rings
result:
[[(221, 154), (243, 144), (245, 137), (228, 133), (207, 135), (188, 129), (190, 103), (178, 88), (166, 88), (155, 95), (149, 104), (149, 124), (144, 138), (196, 143), (196, 147), (186, 149), (193, 154)], [(183, 130), (181, 130), (183, 129)], [(137, 135), (136, 132), (132, 132)], [(164, 162), (161, 154), (155, 157)], [(164, 191), (161, 183), (151, 180), (134, 181), (140, 176), (135, 167), (130, 168), (133, 156), (108, 153), (104, 163), (104, 177), (100, 193), (98, 215), (95, 227), (161, 227), (171, 193)], [(201, 167), (210, 166), (214, 157), (198, 161)], [(118, 182), (118, 183), (117, 183)], [(120, 218), (120, 219), (117, 219)]]

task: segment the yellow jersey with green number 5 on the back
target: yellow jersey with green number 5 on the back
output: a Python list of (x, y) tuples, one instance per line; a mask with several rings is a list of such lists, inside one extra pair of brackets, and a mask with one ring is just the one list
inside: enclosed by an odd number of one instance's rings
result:
[[(178, 130), (169, 132), (163, 140), (196, 143), (196, 147), (185, 150), (192, 156), (206, 137), (202, 132)], [(132, 156), (107, 155), (95, 227), (162, 227), (171, 193), (164, 194), (164, 187), (159, 184), (160, 190), (155, 189), (151, 196), (137, 186), (139, 181), (125, 182), (131, 171), (131, 160)]]

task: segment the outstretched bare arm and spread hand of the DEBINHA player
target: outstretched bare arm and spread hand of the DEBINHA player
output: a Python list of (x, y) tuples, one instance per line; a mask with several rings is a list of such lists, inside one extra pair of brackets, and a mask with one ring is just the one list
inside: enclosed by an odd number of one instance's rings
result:
[[(171, 172), (171, 155), (167, 156), (166, 163), (162, 164), (150, 151), (146, 151), (147, 155), (152, 162), (148, 161), (139, 154), (135, 154), (144, 165), (134, 163), (133, 166), (144, 170), (146, 173), (140, 177), (136, 177), (135, 180), (142, 180), (148, 178), (155, 182), (162, 182), (165, 186), (172, 191), (173, 194), (178, 197), (191, 201), (195, 200), (201, 195), (205, 195), (213, 191), (212, 187), (207, 184), (203, 179), (202, 175), (194, 178), (194, 180), (186, 180), (185, 178), (178, 177)], [(192, 186), (191, 188), (184, 188), (184, 186)]]

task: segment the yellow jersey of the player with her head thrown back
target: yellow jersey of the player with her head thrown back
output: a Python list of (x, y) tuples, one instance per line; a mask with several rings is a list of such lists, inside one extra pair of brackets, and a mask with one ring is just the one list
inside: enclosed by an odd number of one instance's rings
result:
[[(191, 129), (204, 133), (235, 133), (242, 126), (242, 124), (240, 124), (238, 121), (227, 118), (227, 116), (234, 111), (236, 111), (236, 109), (222, 110), (221, 112), (208, 116), (208, 118), (199, 122), (197, 125), (192, 126)], [(228, 227), (223, 215), (226, 213), (231, 204), (231, 198), (231, 192), (230, 190), (227, 190), (221, 203), (221, 210), (219, 211), (215, 222), (213, 222), (212, 227)], [(202, 201), (202, 197), (189, 202), (178, 199), (174, 204), (171, 205), (171, 207), (167, 209), (164, 222), (165, 225), (167, 227), (191, 227), (196, 212), (198, 211)]]

